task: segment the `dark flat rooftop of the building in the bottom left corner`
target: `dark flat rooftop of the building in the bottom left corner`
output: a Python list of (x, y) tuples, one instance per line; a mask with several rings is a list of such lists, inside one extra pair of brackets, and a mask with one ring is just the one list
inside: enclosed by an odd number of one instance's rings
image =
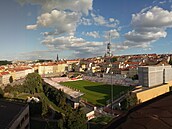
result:
[(0, 129), (8, 129), (27, 104), (0, 99)]

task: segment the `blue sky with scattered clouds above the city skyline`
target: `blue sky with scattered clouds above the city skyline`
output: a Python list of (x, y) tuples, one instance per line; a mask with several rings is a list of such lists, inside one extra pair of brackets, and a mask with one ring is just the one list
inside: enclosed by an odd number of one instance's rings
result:
[(1, 0), (0, 60), (172, 53), (172, 0)]

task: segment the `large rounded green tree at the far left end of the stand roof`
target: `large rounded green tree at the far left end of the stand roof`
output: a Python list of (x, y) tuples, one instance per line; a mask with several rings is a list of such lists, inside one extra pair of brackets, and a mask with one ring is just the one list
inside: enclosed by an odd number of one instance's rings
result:
[(24, 81), (24, 86), (29, 89), (31, 94), (43, 91), (42, 78), (38, 73), (29, 73)]

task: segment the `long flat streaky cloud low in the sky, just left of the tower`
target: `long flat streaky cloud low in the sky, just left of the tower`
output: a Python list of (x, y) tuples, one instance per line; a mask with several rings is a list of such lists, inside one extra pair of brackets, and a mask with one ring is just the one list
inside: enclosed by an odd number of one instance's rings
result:
[(104, 51), (101, 49), (105, 48), (103, 42), (89, 42), (83, 38), (77, 38), (75, 36), (48, 36), (45, 37), (42, 44), (46, 45), (51, 50), (72, 50), (75, 54), (77, 54), (77, 57), (95, 55), (99, 53), (103, 54)]

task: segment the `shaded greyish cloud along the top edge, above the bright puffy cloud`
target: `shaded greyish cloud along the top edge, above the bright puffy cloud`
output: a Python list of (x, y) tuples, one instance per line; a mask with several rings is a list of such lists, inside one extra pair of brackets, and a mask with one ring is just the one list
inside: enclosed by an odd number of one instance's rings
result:
[(57, 10), (70, 10), (74, 12), (82, 12), (88, 15), (92, 10), (93, 0), (18, 0), (21, 4), (36, 4), (42, 7), (45, 12)]

